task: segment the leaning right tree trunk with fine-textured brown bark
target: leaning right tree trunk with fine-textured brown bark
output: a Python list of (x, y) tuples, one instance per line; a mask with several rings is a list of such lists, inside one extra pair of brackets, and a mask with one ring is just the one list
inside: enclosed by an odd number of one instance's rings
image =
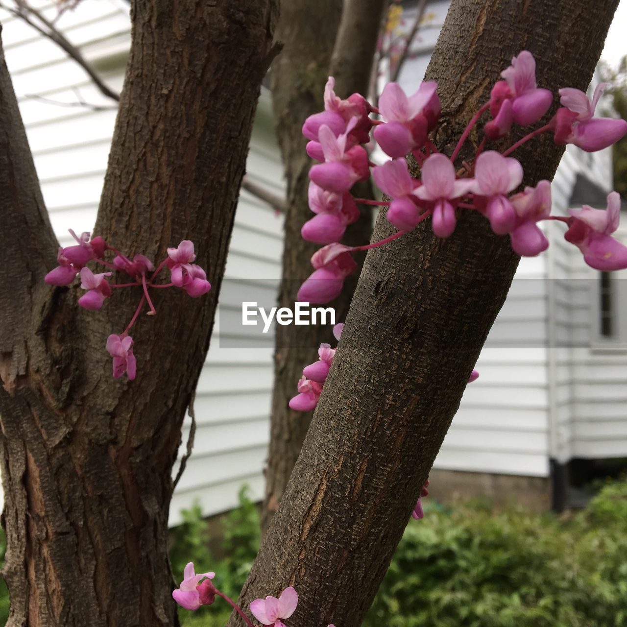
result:
[[(448, 154), (512, 55), (537, 59), (554, 92), (586, 88), (616, 0), (453, 0), (431, 58)], [(594, 14), (594, 19), (589, 16)], [(468, 153), (466, 153), (468, 154)], [(551, 178), (550, 137), (517, 151), (525, 182)], [(393, 232), (384, 216), (373, 238)], [(519, 258), (461, 212), (453, 236), (428, 225), (369, 251), (324, 393), (241, 600), (299, 594), (302, 627), (361, 624), (428, 476)], [(235, 616), (230, 625), (241, 624)]]

